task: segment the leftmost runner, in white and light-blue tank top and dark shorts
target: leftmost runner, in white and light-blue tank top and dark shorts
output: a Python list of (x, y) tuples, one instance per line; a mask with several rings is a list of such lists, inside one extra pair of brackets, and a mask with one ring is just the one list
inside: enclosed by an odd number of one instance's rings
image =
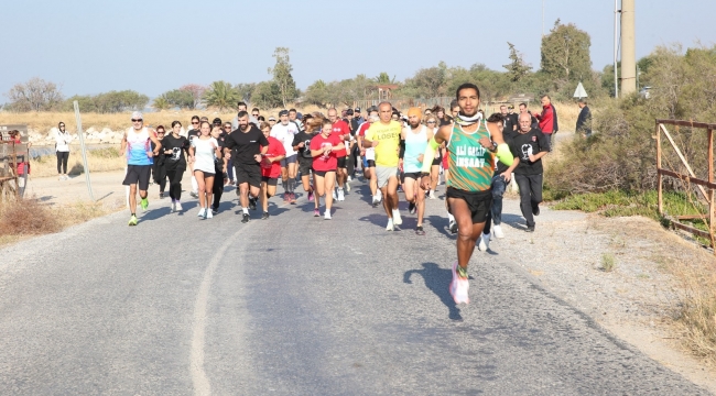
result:
[[(154, 143), (154, 150), (151, 148)], [(162, 143), (156, 139), (156, 131), (144, 127), (142, 113), (132, 113), (132, 127), (124, 131), (122, 136), (121, 151), (127, 151), (127, 175), (124, 186), (129, 186), (129, 210), (132, 216), (129, 218), (129, 226), (137, 226), (137, 187), (142, 199), (142, 210), (149, 207), (147, 190), (149, 189), (149, 177), (154, 164), (154, 157), (159, 155)]]

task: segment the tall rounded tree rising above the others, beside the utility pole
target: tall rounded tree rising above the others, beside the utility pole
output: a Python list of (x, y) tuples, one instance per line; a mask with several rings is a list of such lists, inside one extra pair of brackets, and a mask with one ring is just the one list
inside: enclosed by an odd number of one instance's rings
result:
[(556, 20), (550, 34), (542, 37), (540, 67), (554, 79), (577, 80), (592, 74), (592, 38), (573, 23)]

